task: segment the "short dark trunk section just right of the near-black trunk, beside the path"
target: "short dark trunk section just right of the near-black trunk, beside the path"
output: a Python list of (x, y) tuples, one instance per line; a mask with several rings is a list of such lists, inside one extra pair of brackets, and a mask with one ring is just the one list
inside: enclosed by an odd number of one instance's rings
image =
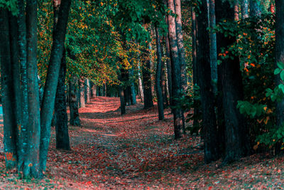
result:
[(78, 100), (78, 79), (70, 78), (69, 80), (69, 108), (70, 108), (70, 125), (80, 126), (79, 118), (79, 100)]

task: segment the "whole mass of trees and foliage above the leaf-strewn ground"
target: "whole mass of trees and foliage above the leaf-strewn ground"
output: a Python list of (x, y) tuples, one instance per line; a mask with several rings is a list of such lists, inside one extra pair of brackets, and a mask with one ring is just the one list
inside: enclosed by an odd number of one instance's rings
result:
[[(219, 167), (284, 148), (284, 1), (0, 1), (6, 168), (42, 178), (50, 129), (94, 97), (170, 107), (173, 138)], [(68, 115), (69, 119), (68, 119)], [(69, 120), (69, 122), (68, 122)], [(69, 124), (68, 124), (69, 123)]]

